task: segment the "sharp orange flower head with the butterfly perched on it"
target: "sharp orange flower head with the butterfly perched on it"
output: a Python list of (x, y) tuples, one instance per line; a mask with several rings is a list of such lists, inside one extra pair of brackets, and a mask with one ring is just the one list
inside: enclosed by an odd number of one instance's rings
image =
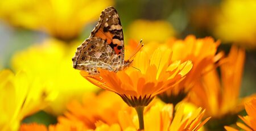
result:
[(113, 91), (131, 107), (146, 106), (155, 95), (175, 86), (191, 70), (191, 61), (171, 62), (169, 49), (156, 49), (149, 56), (139, 52), (134, 58), (133, 67), (117, 73), (100, 70), (100, 75), (81, 75), (88, 81), (105, 90)]

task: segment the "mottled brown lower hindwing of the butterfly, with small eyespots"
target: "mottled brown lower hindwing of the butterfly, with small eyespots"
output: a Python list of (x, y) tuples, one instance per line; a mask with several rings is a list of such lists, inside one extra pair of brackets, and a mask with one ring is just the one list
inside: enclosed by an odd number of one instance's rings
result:
[(116, 70), (121, 61), (114, 54), (113, 49), (99, 37), (86, 39), (73, 57), (75, 69), (86, 70), (90, 74), (97, 74), (98, 67), (107, 70)]

